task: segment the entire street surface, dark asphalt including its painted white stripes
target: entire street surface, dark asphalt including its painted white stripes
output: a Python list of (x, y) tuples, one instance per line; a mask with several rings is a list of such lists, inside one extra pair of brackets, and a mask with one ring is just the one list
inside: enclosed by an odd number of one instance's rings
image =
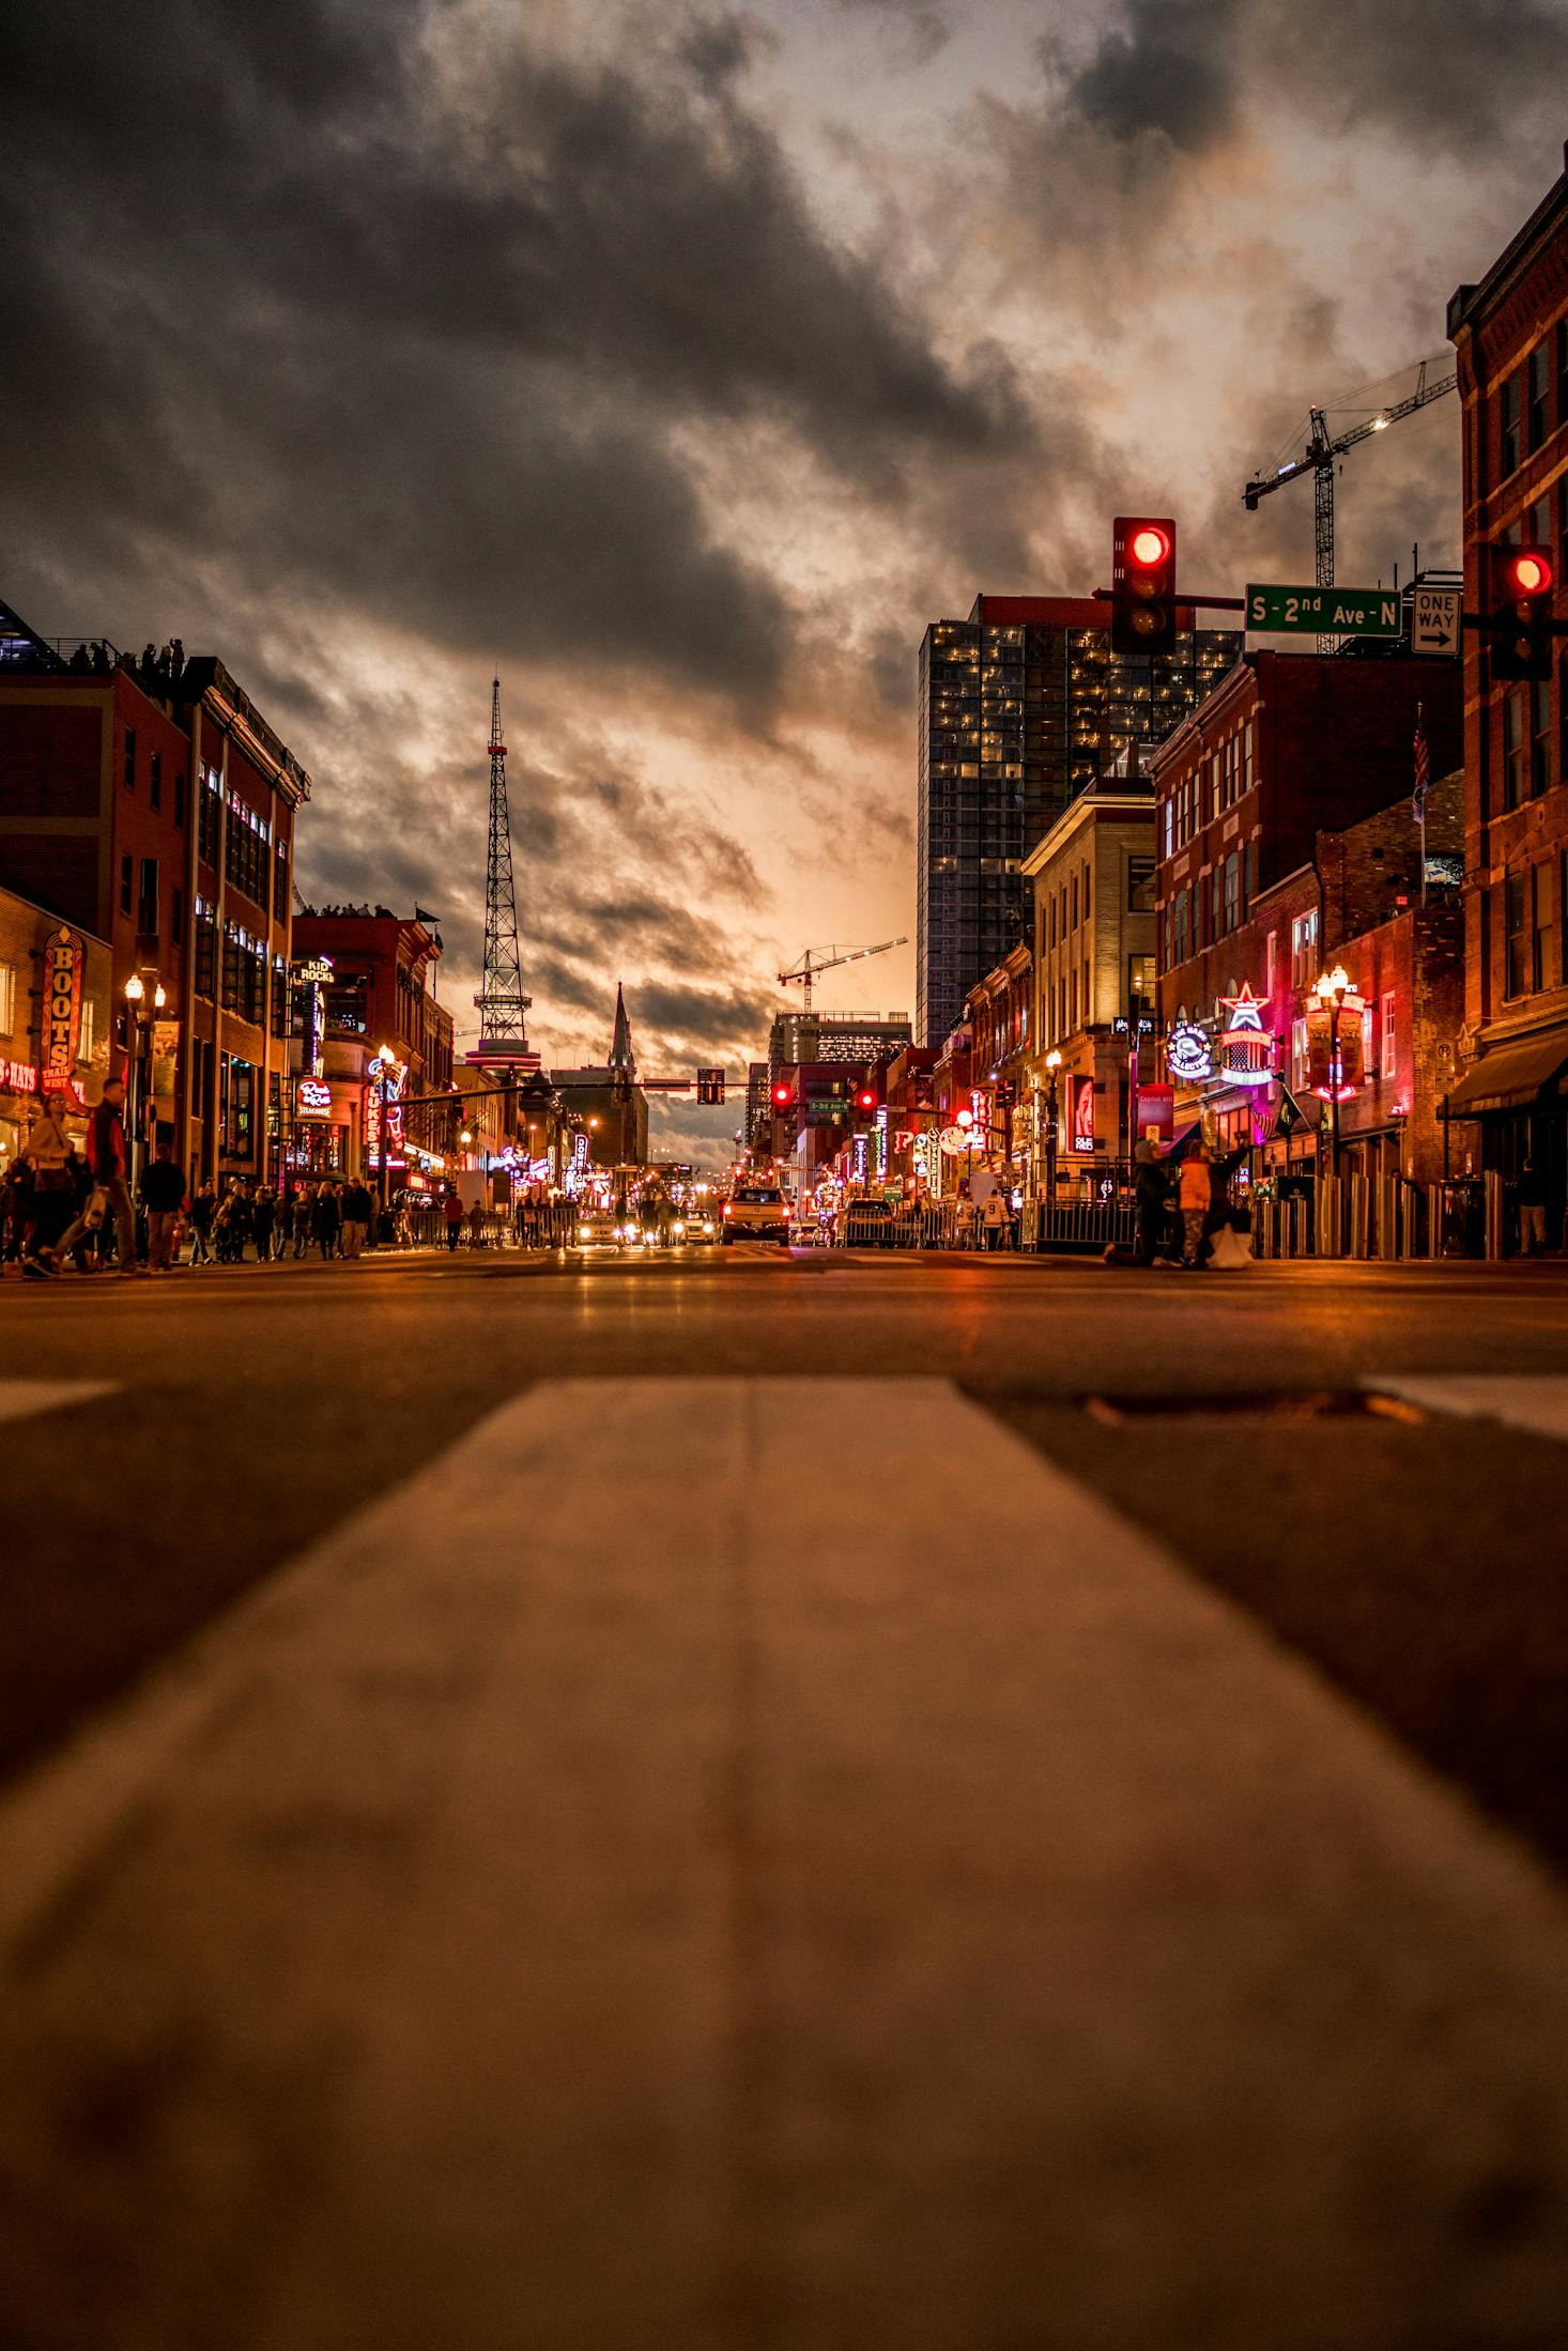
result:
[(0, 1286), (0, 2342), (1568, 2339), (1568, 1270)]

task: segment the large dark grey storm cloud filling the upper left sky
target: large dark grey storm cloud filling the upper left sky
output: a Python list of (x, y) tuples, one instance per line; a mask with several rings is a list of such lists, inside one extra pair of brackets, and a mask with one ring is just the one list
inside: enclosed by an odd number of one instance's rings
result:
[[(141, 614), (174, 541), (470, 649), (592, 654), (738, 710), (790, 600), (722, 545), (679, 451), (776, 418), (851, 496), (1027, 433), (816, 223), (682, 21), (632, 75), (496, 12), (329, 0), (38, 9), (7, 40), (14, 562)], [(59, 543), (71, 555), (54, 552)]]

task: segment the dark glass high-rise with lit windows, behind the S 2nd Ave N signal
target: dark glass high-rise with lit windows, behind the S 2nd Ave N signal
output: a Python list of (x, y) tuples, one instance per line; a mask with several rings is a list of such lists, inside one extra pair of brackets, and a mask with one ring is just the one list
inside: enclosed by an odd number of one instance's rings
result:
[(1091, 597), (980, 595), (919, 649), (914, 1034), (940, 1044), (966, 992), (1032, 936), (1023, 858), (1128, 745), (1161, 743), (1241, 654), (1192, 628), (1166, 661), (1119, 658)]

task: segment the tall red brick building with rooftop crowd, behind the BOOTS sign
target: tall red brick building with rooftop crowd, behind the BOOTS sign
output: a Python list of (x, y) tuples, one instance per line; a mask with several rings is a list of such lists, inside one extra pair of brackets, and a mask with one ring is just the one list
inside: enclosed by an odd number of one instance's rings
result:
[(141, 1138), (193, 1180), (277, 1171), (308, 797), (219, 661), (66, 649), (0, 609), (0, 877), (108, 940)]

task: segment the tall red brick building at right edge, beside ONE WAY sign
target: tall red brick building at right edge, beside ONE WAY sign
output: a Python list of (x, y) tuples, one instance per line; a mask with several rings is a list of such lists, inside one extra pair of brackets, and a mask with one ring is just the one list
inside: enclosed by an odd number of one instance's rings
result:
[[(1495, 602), (1495, 550), (1540, 541), (1568, 621), (1568, 169), (1479, 284), (1448, 303), (1465, 402), (1465, 607)], [(1547, 1176), (1547, 1234), (1563, 1239), (1568, 1147), (1568, 642), (1552, 677), (1493, 677), (1465, 637), (1465, 1049), (1453, 1091), (1481, 1166)]]

